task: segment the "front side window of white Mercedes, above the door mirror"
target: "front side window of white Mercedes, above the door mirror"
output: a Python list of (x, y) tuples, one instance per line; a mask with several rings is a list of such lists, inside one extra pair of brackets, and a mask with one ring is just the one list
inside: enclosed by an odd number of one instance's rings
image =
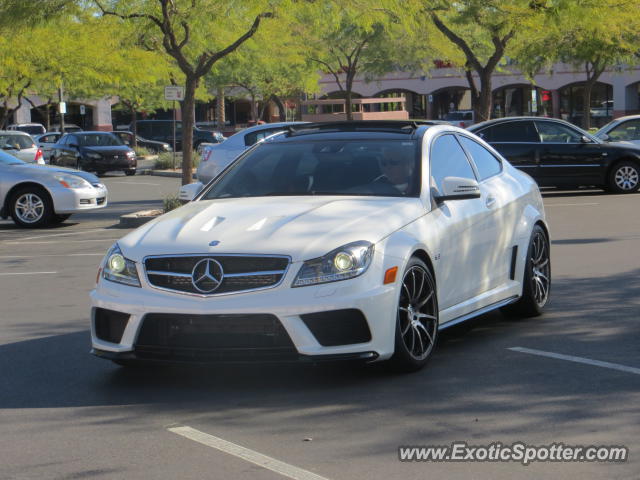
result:
[(476, 178), (467, 155), (453, 135), (438, 137), (431, 147), (431, 186), (442, 192), (445, 177)]

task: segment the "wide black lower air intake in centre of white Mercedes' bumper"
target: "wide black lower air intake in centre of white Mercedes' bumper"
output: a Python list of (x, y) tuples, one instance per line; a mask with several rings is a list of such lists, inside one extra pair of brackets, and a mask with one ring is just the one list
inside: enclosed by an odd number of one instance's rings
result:
[(139, 358), (174, 361), (282, 360), (297, 357), (274, 315), (145, 315), (135, 345)]

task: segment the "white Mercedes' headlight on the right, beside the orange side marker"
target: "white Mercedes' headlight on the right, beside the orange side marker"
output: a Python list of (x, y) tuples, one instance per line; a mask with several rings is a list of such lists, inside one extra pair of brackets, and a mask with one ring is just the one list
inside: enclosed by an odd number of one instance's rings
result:
[(337, 282), (367, 271), (373, 258), (373, 243), (353, 242), (302, 264), (292, 287)]

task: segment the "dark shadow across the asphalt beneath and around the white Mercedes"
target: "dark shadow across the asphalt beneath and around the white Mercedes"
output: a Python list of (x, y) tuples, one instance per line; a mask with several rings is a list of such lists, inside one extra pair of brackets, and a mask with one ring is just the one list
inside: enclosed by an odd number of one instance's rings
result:
[[(233, 414), (238, 409), (296, 412), (316, 420), (336, 410), (383, 414), (397, 409), (434, 419), (455, 412), (469, 419), (513, 413), (523, 418), (507, 433), (518, 433), (584, 415), (606, 417), (611, 407), (604, 399), (635, 394), (639, 382), (623, 372), (507, 348), (638, 367), (639, 294), (640, 270), (561, 279), (553, 286), (547, 314), (511, 320), (494, 312), (448, 329), (430, 364), (404, 375), (375, 364), (123, 368), (89, 354), (88, 331), (52, 335), (0, 346), (0, 409), (128, 406), (138, 413), (175, 413), (188, 405), (189, 412), (239, 424), (250, 420)], [(634, 402), (625, 408), (617, 413), (638, 415)], [(447, 434), (447, 426), (437, 422), (421, 428)]]

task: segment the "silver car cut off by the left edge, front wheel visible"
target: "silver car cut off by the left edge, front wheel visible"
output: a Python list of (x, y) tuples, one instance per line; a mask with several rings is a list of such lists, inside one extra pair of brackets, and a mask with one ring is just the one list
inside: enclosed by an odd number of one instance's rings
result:
[(107, 188), (95, 175), (27, 164), (0, 152), (0, 218), (35, 228), (106, 206)]

